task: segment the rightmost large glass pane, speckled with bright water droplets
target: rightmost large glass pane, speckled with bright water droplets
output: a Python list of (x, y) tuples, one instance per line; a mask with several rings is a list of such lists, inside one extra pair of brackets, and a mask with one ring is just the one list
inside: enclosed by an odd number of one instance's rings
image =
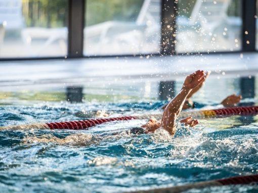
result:
[(241, 50), (240, 0), (179, 0), (178, 53)]

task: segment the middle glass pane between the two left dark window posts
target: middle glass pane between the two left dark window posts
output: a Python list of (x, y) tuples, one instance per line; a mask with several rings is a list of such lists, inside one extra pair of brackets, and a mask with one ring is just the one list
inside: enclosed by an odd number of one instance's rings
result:
[(159, 52), (161, 0), (87, 0), (86, 56)]

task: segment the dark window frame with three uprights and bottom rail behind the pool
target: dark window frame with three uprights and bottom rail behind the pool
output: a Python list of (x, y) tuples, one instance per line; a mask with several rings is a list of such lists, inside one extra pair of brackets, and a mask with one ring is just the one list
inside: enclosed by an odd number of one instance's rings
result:
[[(166, 56), (166, 55), (199, 55), (199, 54), (232, 54), (257, 52), (255, 49), (256, 35), (256, 1), (258, 0), (239, 0), (242, 4), (242, 46), (239, 51), (226, 52), (202, 52), (202, 53), (177, 53), (173, 34), (176, 31), (176, 17), (178, 5), (176, 1), (160, 0), (161, 3), (161, 39), (160, 52), (149, 54), (126, 54), (126, 55), (83, 55), (83, 30), (84, 14), (87, 0), (68, 0), (68, 53), (65, 57), (26, 57), (26, 58), (0, 58), (0, 61), (9, 60), (47, 60), (47, 59), (72, 59), (72, 58), (106, 58), (106, 57), (135, 57), (135, 56)], [(173, 16), (173, 17), (171, 17)], [(172, 18), (172, 19), (171, 19)], [(167, 25), (174, 26), (173, 30), (168, 30)], [(248, 31), (248, 34), (245, 34)], [(170, 41), (166, 43), (166, 39)], [(246, 41), (249, 41), (249, 44)]]

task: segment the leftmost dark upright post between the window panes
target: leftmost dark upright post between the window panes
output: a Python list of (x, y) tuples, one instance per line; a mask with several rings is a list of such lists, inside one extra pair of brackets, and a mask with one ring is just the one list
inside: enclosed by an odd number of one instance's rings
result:
[(69, 1), (68, 58), (83, 56), (83, 28), (85, 0)]

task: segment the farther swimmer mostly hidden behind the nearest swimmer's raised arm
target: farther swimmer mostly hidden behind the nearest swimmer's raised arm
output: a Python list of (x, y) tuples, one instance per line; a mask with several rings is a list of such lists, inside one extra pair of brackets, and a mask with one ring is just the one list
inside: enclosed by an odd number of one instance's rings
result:
[[(210, 71), (206, 72), (205, 73), (205, 80), (206, 78), (209, 76), (210, 74)], [(183, 105), (183, 110), (186, 110), (186, 109), (194, 109), (194, 108), (201, 108), (201, 107), (204, 107), (205, 105), (202, 105), (202, 104), (198, 104), (196, 102), (193, 102), (191, 100), (191, 97), (198, 91), (200, 90), (200, 88), (204, 85), (205, 81), (203, 81), (201, 84), (199, 84), (198, 86), (196, 86), (195, 88), (193, 88), (191, 90), (191, 92), (187, 95), (187, 98), (186, 98), (186, 101)], [(237, 106), (238, 103), (240, 103), (242, 99), (242, 96), (241, 95), (236, 95), (236, 94), (231, 94), (229, 96), (227, 96), (226, 99), (224, 99), (220, 104), (222, 104), (224, 107), (234, 107), (234, 106)], [(167, 105), (167, 104), (166, 104)], [(166, 105), (164, 105), (162, 107), (162, 109), (165, 109)]]

